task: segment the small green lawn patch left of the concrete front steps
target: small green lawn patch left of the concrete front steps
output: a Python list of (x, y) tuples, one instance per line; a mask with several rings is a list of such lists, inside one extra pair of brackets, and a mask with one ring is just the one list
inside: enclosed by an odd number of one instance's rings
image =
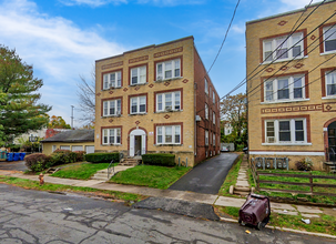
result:
[(51, 176), (77, 179), (77, 180), (89, 180), (95, 174), (96, 171), (108, 169), (109, 163), (82, 163), (68, 165), (55, 172)]

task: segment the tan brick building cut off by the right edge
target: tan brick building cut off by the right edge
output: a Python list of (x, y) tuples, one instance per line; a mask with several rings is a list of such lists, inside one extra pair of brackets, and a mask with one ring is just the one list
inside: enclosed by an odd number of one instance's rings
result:
[(336, 2), (289, 35), (318, 4), (246, 23), (250, 157), (287, 156), (293, 169), (309, 156), (322, 170), (336, 151)]

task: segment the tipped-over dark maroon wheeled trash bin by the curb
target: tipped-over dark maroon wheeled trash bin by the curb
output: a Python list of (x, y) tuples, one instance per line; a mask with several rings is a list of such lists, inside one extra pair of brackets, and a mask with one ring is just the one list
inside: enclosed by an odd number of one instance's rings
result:
[(250, 194), (240, 210), (238, 223), (251, 224), (261, 230), (268, 223), (269, 215), (269, 199), (265, 195)]

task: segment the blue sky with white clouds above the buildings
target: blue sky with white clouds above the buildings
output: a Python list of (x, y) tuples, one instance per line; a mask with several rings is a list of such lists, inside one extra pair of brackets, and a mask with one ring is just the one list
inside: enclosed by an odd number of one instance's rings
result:
[[(241, 0), (223, 50), (210, 72), (225, 95), (245, 77), (245, 22), (301, 9), (310, 0)], [(313, 1), (318, 2), (318, 1)], [(44, 85), (41, 102), (70, 124), (79, 75), (94, 61), (194, 35), (208, 69), (237, 0), (0, 0), (0, 43), (16, 49)], [(238, 92), (244, 92), (241, 89)], [(81, 126), (74, 110), (74, 125)]]

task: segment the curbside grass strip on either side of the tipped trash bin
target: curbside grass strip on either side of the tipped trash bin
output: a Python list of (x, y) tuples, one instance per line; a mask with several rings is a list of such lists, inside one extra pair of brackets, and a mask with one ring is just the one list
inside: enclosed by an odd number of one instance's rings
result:
[[(271, 206), (272, 207), (272, 206)], [(216, 207), (216, 211), (220, 213), (224, 213), (230, 215), (232, 218), (238, 221), (238, 213), (240, 207), (233, 207), (233, 206), (224, 206), (224, 207)], [(278, 226), (278, 227), (287, 227), (293, 230), (299, 230), (299, 231), (306, 231), (306, 232), (315, 232), (315, 233), (324, 233), (329, 235), (336, 235), (336, 217), (326, 215), (326, 214), (319, 214), (319, 217), (312, 217), (310, 224), (305, 224), (299, 215), (286, 215), (286, 214), (279, 214), (272, 212), (271, 218), (268, 222), (268, 226)]]

